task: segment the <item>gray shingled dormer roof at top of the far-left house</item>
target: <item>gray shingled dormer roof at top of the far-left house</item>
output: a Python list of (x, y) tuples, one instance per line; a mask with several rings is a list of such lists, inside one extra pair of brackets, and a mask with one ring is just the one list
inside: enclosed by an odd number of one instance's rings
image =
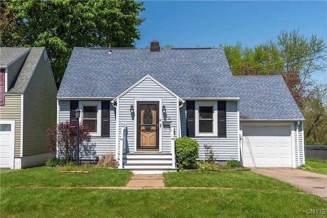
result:
[(30, 47), (0, 47), (0, 65), (7, 67), (30, 49)]

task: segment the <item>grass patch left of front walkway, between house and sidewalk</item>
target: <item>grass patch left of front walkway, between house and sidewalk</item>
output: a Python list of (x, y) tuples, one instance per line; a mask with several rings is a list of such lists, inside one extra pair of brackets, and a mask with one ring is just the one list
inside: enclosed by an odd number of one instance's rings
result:
[[(75, 170), (76, 167), (70, 169)], [(125, 186), (132, 175), (129, 171), (101, 167), (93, 168), (90, 173), (60, 173), (57, 167), (41, 166), (1, 171), (0, 184), (1, 187)]]

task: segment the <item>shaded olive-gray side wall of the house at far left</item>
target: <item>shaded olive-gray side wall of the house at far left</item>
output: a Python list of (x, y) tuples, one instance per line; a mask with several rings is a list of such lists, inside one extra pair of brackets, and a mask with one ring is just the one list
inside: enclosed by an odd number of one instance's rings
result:
[(49, 153), (46, 130), (56, 123), (56, 95), (50, 63), (40, 56), (24, 93), (23, 156)]

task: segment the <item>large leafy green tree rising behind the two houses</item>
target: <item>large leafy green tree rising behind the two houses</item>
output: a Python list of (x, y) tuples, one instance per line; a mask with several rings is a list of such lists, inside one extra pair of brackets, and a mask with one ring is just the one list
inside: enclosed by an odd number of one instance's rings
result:
[[(45, 46), (57, 86), (74, 46), (131, 47), (143, 3), (133, 1), (2, 1), (1, 46)], [(12, 36), (14, 40), (11, 39)]]

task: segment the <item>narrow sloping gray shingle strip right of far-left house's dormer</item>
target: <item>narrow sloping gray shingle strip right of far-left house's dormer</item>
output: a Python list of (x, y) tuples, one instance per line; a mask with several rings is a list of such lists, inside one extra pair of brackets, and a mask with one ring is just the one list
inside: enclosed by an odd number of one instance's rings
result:
[(32, 47), (22, 66), (16, 82), (11, 86), (8, 93), (23, 93), (34, 73), (35, 67), (43, 56), (44, 47)]

